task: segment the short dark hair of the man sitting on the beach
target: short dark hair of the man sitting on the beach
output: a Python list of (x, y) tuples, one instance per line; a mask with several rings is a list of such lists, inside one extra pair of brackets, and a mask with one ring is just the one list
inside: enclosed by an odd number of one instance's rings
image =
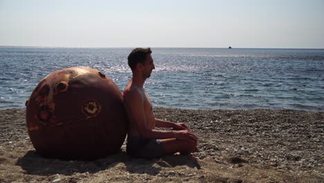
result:
[(143, 48), (136, 48), (128, 55), (128, 65), (129, 67), (134, 70), (136, 64), (144, 63), (146, 59), (146, 55), (150, 55), (152, 53), (150, 48), (143, 49)]

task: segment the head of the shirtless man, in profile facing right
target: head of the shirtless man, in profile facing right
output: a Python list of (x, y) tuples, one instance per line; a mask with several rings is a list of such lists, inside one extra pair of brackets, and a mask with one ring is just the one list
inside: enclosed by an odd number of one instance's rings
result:
[(150, 48), (137, 48), (129, 53), (127, 58), (128, 65), (133, 73), (136, 70), (141, 70), (145, 78), (150, 77), (152, 70), (155, 69), (151, 53), (152, 51)]

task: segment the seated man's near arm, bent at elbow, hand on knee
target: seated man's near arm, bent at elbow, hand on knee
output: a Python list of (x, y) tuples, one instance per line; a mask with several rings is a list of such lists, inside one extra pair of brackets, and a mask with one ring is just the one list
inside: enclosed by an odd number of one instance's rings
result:
[(133, 89), (124, 97), (125, 110), (129, 116), (131, 123), (135, 123), (138, 133), (143, 138), (147, 139), (188, 139), (197, 141), (198, 138), (195, 134), (188, 130), (152, 130), (147, 127), (144, 111), (144, 98), (143, 94), (137, 89)]

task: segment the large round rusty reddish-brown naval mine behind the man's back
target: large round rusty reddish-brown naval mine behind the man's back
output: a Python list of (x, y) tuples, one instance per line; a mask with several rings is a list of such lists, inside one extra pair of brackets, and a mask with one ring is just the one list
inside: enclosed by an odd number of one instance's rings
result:
[(60, 159), (114, 154), (127, 133), (120, 89), (89, 67), (54, 71), (39, 82), (26, 101), (26, 123), (37, 153)]

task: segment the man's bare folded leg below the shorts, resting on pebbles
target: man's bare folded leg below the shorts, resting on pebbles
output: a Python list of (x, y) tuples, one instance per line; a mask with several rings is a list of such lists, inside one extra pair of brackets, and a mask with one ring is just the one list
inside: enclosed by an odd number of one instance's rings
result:
[(197, 143), (179, 139), (161, 139), (160, 143), (165, 155), (174, 155), (180, 152), (181, 155), (188, 155), (197, 150)]

